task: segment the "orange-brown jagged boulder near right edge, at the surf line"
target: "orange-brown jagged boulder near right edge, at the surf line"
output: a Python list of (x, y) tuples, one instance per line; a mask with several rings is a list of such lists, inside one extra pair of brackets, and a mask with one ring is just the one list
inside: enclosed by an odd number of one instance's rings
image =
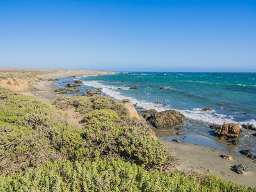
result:
[(216, 136), (225, 136), (227, 138), (237, 138), (239, 132), (240, 126), (238, 124), (224, 124), (217, 127), (214, 134)]

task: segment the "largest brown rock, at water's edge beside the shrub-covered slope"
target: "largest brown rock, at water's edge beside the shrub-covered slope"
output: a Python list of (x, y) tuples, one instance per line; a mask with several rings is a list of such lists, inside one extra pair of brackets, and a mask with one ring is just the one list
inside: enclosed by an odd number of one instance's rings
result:
[(147, 118), (147, 122), (152, 124), (157, 129), (167, 129), (174, 125), (179, 125), (184, 122), (184, 115), (179, 111), (166, 110), (160, 113), (152, 113)]

